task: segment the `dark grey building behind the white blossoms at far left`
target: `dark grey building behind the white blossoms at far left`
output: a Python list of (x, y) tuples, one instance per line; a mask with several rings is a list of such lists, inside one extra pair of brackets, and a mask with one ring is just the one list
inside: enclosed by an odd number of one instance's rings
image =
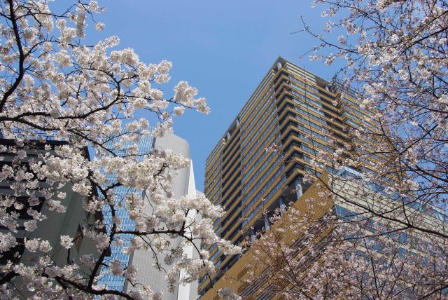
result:
[[(4, 151), (1, 153), (2, 160), (0, 167), (8, 168), (15, 172), (29, 172), (29, 163), (31, 161), (41, 161), (41, 156), (45, 154), (55, 154), (55, 147), (64, 146), (66, 142), (55, 141), (47, 139), (45, 142), (29, 141), (25, 146), (18, 146), (17, 141), (14, 139), (0, 139), (0, 146), (3, 149), (15, 149), (15, 151)], [(25, 158), (18, 159), (17, 149), (23, 149), (26, 151)], [(85, 147), (83, 149), (83, 156), (90, 159), (90, 154)], [(18, 240), (18, 245), (13, 247), (8, 252), (1, 253), (0, 257), (0, 275), (2, 273), (1, 266), (5, 266), (8, 262), (13, 264), (32, 265), (42, 257), (39, 252), (31, 252), (25, 249), (24, 240), (41, 239), (48, 240), (52, 246), (52, 250), (48, 252), (52, 262), (55, 266), (66, 266), (67, 261), (72, 262), (79, 261), (79, 258), (85, 254), (92, 254), (94, 259), (99, 259), (99, 252), (96, 245), (90, 238), (85, 238), (83, 229), (90, 224), (94, 224), (95, 221), (102, 221), (103, 216), (101, 213), (92, 214), (87, 212), (83, 208), (83, 204), (90, 199), (80, 195), (73, 191), (73, 184), (67, 182), (58, 189), (59, 192), (65, 193), (65, 198), (60, 199), (57, 195), (53, 195), (50, 198), (45, 198), (39, 187), (47, 187), (46, 183), (39, 182), (38, 187), (34, 193), (26, 193), (25, 189), (22, 193), (18, 194), (17, 190), (11, 189), (13, 185), (19, 185), (22, 182), (15, 182), (8, 178), (0, 181), (0, 198), (6, 200), (7, 198), (13, 198), (15, 203), (20, 205), (10, 205), (9, 207), (2, 207), (3, 212), (9, 214), (15, 213), (17, 215), (17, 230), (11, 232), (6, 226), (0, 226), (1, 233), (13, 233), (13, 236)], [(20, 191), (20, 189), (18, 189)], [(48, 201), (60, 200), (60, 204), (66, 207), (65, 212), (57, 212), (52, 210)], [(6, 201), (4, 201), (6, 203)], [(38, 226), (34, 231), (28, 232), (26, 230), (26, 222), (33, 219), (31, 212), (36, 214), (42, 214), (45, 218), (38, 221)], [(51, 230), (49, 230), (51, 229)], [(61, 236), (70, 236), (74, 238), (74, 245), (71, 247), (70, 252), (67, 252), (60, 245)], [(84, 266), (82, 266), (84, 268)], [(90, 274), (91, 270), (85, 269), (85, 274)], [(15, 291), (16, 295), (20, 296), (20, 299), (32, 298), (34, 292), (32, 288), (23, 287), (22, 278), (17, 277), (12, 280), (13, 285), (8, 286), (7, 289)], [(6, 296), (6, 295), (4, 295)]]

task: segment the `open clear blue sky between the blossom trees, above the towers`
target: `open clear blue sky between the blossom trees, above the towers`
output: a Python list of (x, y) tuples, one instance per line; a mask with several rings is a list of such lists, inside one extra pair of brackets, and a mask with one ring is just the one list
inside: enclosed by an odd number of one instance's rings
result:
[(205, 159), (276, 57), (325, 79), (335, 72), (322, 62), (299, 59), (317, 43), (307, 34), (291, 34), (303, 27), (300, 15), (315, 28), (325, 23), (321, 8), (311, 8), (308, 0), (109, 0), (99, 4), (106, 11), (96, 19), (106, 29), (89, 39), (117, 35), (118, 48), (134, 48), (146, 63), (170, 60), (172, 85), (165, 88), (171, 90), (174, 83), (186, 80), (207, 98), (211, 114), (190, 111), (174, 120), (174, 133), (190, 143), (200, 190)]

